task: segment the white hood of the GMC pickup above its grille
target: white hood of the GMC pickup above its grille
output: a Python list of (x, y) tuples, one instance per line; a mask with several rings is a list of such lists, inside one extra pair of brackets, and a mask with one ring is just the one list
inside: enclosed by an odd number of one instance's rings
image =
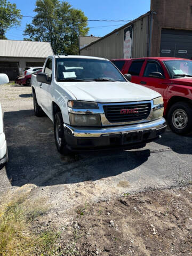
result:
[(145, 101), (161, 96), (158, 92), (131, 82), (68, 82), (65, 87), (77, 100), (102, 103)]

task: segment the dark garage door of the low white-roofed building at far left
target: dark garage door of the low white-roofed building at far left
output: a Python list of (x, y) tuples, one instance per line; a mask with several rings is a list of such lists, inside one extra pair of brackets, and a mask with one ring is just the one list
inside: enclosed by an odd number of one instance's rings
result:
[(10, 81), (19, 76), (19, 62), (0, 61), (0, 73), (6, 74)]

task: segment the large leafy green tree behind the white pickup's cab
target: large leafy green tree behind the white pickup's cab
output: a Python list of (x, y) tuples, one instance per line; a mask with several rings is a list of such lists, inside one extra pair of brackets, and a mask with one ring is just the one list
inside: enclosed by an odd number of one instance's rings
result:
[(89, 28), (87, 17), (68, 2), (37, 0), (37, 14), (27, 24), (25, 40), (50, 42), (55, 54), (78, 54), (78, 36), (85, 36)]

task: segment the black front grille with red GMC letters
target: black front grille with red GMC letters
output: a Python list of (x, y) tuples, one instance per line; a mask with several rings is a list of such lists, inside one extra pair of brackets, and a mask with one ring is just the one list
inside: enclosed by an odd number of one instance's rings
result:
[[(151, 103), (133, 103), (125, 105), (108, 105), (103, 106), (106, 118), (110, 123), (132, 122), (146, 119), (151, 110)], [(132, 113), (132, 110), (137, 109), (138, 113)], [(121, 114), (121, 111), (123, 114)], [(127, 113), (126, 113), (127, 111)]]

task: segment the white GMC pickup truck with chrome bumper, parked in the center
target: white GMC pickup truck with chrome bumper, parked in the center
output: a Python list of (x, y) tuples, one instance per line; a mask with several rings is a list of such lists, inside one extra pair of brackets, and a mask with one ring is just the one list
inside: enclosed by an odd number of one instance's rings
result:
[[(127, 79), (126, 79), (126, 78)], [(60, 55), (32, 75), (36, 116), (54, 123), (61, 154), (84, 149), (135, 148), (165, 131), (161, 94), (128, 81), (107, 59)]]

